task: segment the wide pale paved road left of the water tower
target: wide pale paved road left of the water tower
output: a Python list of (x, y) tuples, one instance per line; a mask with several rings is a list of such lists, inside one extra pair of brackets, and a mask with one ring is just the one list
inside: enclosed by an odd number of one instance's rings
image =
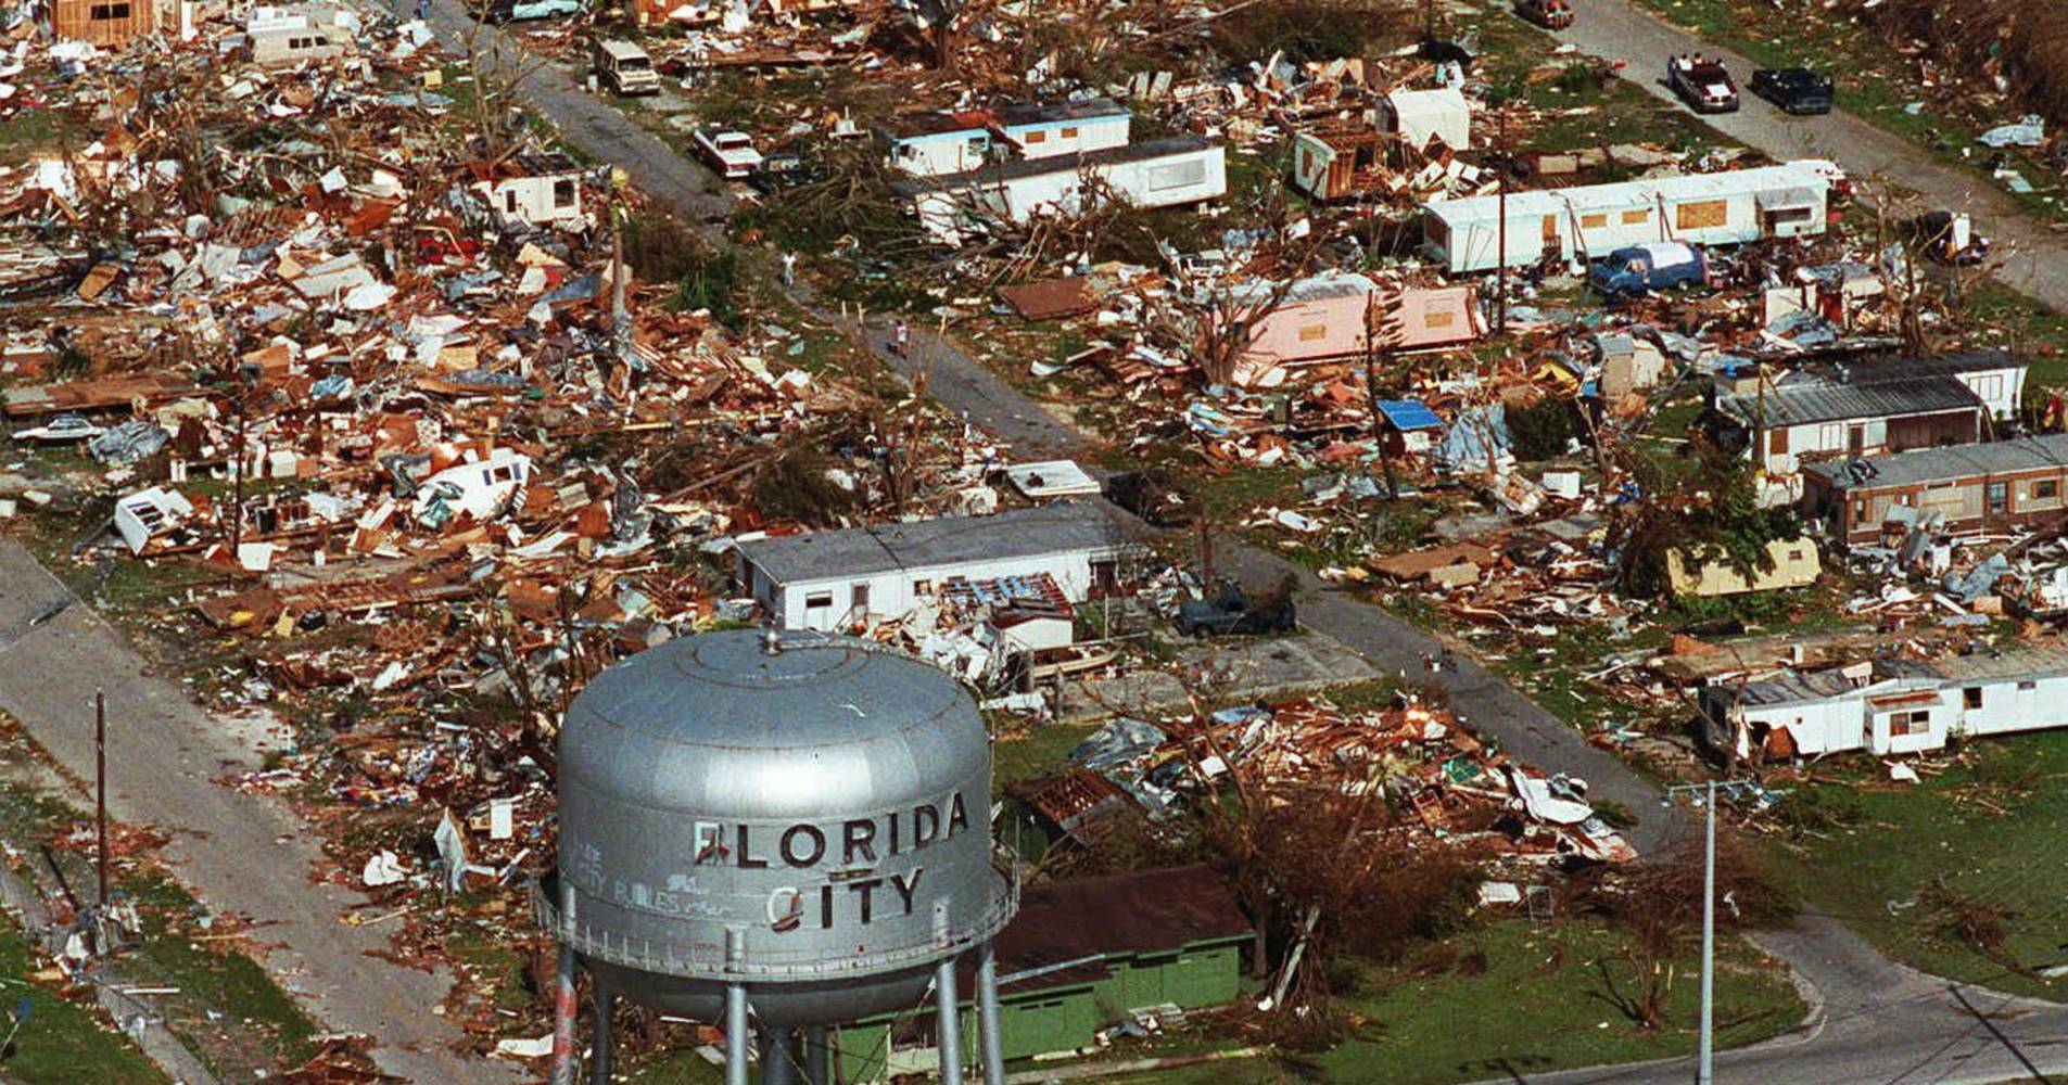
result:
[(273, 798), (215, 783), (252, 767), (252, 752), (151, 674), (85, 603), (33, 624), (68, 599), (64, 585), (12, 539), (0, 539), (0, 709), (19, 719), (74, 779), (93, 779), (93, 690), (108, 692), (108, 806), (126, 823), (172, 833), (178, 878), (219, 913), (244, 913), (258, 961), (327, 1029), (381, 1042), (381, 1068), (418, 1085), (505, 1085), (521, 1075), (455, 1052), (461, 1031), (430, 1011), (451, 980), (372, 957), (393, 926), (345, 926), (364, 897), (312, 882), (335, 864)]

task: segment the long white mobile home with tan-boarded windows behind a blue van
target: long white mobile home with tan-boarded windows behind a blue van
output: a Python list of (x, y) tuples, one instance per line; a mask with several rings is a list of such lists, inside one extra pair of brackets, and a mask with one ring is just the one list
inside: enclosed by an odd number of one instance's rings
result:
[[(1644, 242), (1745, 244), (1824, 231), (1838, 167), (1803, 159), (1760, 169), (1690, 174), (1508, 194), (1508, 267), (1568, 262)], [(1423, 250), (1452, 273), (1501, 265), (1501, 198), (1423, 207)]]

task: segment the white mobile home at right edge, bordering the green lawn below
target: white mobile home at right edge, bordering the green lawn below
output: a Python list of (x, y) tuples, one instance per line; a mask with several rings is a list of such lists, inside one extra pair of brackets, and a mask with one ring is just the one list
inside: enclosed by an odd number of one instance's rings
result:
[(1737, 742), (1739, 754), (1915, 754), (1954, 736), (2068, 727), (2068, 649), (1787, 672), (1706, 686), (1702, 709), (1710, 742)]

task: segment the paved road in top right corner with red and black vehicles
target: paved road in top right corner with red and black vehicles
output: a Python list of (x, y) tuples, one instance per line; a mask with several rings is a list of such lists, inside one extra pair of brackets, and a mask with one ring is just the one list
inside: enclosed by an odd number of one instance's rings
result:
[[(1578, 19), (1553, 37), (1580, 52), (1625, 64), (1623, 74), (1663, 101), (1679, 99), (1663, 83), (1667, 58), (1683, 52), (1719, 56), (1737, 76), (1752, 79), (1752, 60), (1723, 50), (1690, 31), (1661, 21), (1630, 0), (1572, 0)], [(1838, 72), (1838, 101), (1845, 103), (1845, 72)], [(1702, 118), (1716, 130), (1758, 147), (1778, 159), (1820, 157), (1836, 161), (1857, 180), (1882, 178), (1923, 196), (1925, 205), (1967, 209), (1977, 225), (2006, 254), (1998, 279), (2047, 306), (2068, 312), (2068, 240), (2029, 215), (2008, 192), (1975, 169), (1946, 165), (1905, 136), (1865, 120), (1832, 112), (1820, 118), (1791, 118), (1766, 99), (1743, 95), (1743, 110)]]

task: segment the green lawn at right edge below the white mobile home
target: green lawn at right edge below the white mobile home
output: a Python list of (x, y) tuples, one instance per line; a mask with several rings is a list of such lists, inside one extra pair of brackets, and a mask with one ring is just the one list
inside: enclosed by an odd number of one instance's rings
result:
[[(1818, 769), (1787, 804), (1826, 825), (1801, 837), (1793, 864), (1803, 897), (1845, 920), (1890, 957), (1934, 975), (2060, 1000), (2062, 980), (2039, 969), (2068, 961), (2068, 734), (1969, 742), (1921, 785), (1892, 785), (1874, 761)], [(1950, 930), (1936, 891), (1989, 901), (2002, 918), (2004, 951), (1991, 959)]]

